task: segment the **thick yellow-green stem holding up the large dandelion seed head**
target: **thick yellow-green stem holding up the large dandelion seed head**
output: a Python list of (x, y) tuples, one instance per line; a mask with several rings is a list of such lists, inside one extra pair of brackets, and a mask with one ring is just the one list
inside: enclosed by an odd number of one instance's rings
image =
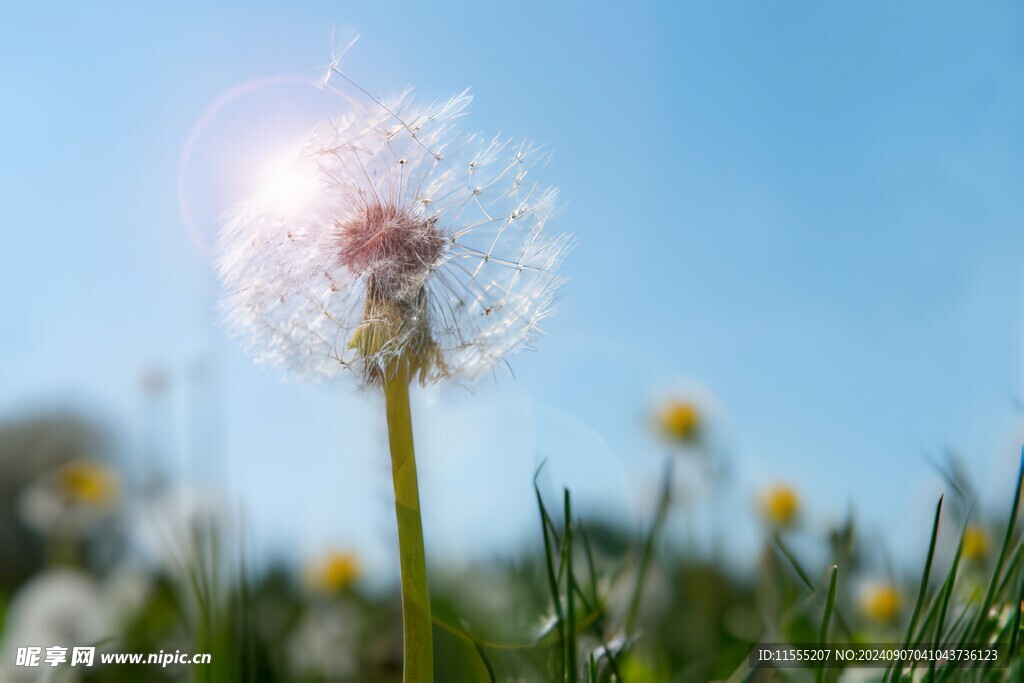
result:
[(396, 362), (384, 379), (394, 509), (398, 518), (398, 554), (401, 556), (402, 680), (404, 683), (431, 683), (434, 671), (430, 592), (420, 519), (420, 490), (416, 480), (413, 418), (409, 407), (411, 379), (409, 362), (404, 360)]

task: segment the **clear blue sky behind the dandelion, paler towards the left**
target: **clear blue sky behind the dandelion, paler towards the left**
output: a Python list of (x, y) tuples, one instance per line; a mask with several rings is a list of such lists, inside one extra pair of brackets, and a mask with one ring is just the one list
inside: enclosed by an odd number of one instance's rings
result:
[[(169, 467), (227, 485), (270, 546), (352, 544), (388, 564), (374, 398), (281, 384), (242, 355), (212, 325), (209, 261), (177, 198), (211, 102), (254, 79), (315, 80), (332, 33), (354, 31), (347, 70), (370, 90), (468, 86), (472, 127), (549, 142), (578, 242), (514, 380), (417, 398), (435, 548), (530, 532), (539, 456), (552, 486), (641, 518), (662, 455), (646, 416), (673, 391), (714, 404), (736, 545), (775, 479), (801, 488), (812, 526), (852, 501), (920, 539), (938, 492), (926, 456), (946, 447), (1001, 509), (1024, 435), (1024, 10), (636, 4), (8, 9), (0, 410), (72, 402), (138, 438), (137, 378), (165, 367)], [(203, 229), (232, 168), (343, 109), (301, 90), (237, 98), (198, 139)], [(194, 386), (200, 360), (213, 375)], [(188, 436), (208, 408), (200, 431), (219, 437)]]

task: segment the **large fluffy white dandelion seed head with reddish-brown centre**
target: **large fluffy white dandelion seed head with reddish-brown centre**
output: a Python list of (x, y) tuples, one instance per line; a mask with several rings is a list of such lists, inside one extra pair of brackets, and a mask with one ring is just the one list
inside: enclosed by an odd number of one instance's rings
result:
[(562, 282), (568, 237), (545, 231), (556, 190), (532, 178), (545, 156), (460, 132), (466, 92), (371, 100), (306, 136), (308, 197), (256, 196), (230, 214), (228, 321), (294, 378), (355, 369), (372, 383), (412, 358), (421, 382), (475, 380), (530, 344)]

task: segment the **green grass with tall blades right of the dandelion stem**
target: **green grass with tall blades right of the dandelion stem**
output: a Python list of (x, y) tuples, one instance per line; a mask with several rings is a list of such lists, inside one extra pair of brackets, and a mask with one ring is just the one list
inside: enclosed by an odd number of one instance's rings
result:
[[(666, 481), (670, 477), (671, 469), (667, 469)], [(451, 641), (462, 645), (453, 647), (451, 643), (445, 645), (444, 639), (438, 639), (439, 652), (434, 670), (437, 680), (658, 683), (727, 678), (733, 681), (802, 681), (806, 680), (806, 675), (822, 683), (842, 680), (844, 670), (839, 668), (771, 672), (746, 668), (745, 654), (757, 644), (757, 639), (730, 637), (725, 632), (728, 625), (723, 623), (725, 615), (737, 606), (755, 607), (748, 613), (756, 615), (757, 591), (742, 580), (723, 572), (721, 567), (701, 565), (686, 558), (659, 556), (655, 552), (670, 506), (671, 497), (667, 492), (668, 485), (662, 489), (654, 519), (647, 531), (632, 537), (616, 529), (588, 528), (584, 520), (574, 516), (568, 490), (562, 492), (556, 516), (535, 482), (541, 556), (537, 562), (524, 561), (510, 568), (502, 580), (536, 614), (547, 612), (551, 617), (535, 637), (513, 642), (480, 635), (486, 630), (485, 626), (471, 629), (450, 623), (449, 618), (462, 618), (460, 611), (466, 616), (469, 614), (465, 605), (442, 606), (435, 614), (435, 633), (443, 632)], [(793, 643), (892, 642), (904, 648), (925, 643), (963, 646), (998, 642), (1002, 643), (1000, 655), (1008, 657), (1006, 666), (954, 669), (934, 661), (924, 668), (920, 665), (895, 666), (874, 670), (877, 680), (1019, 680), (1015, 677), (1024, 671), (1020, 610), (1009, 620), (993, 618), (990, 614), (993, 605), (1019, 605), (1024, 598), (1024, 545), (1016, 525), (1019, 499), (1020, 479), (1002, 544), (990, 567), (984, 593), (975, 603), (957, 593), (961, 582), (967, 581), (962, 552), (966, 519), (958, 524), (959, 542), (951, 560), (938, 579), (935, 575), (940, 556), (940, 528), (948, 523), (943, 512), (944, 498), (939, 499), (928, 544), (923, 548), (924, 561), (912, 608), (902, 630), (890, 641), (878, 638), (862, 620), (857, 622), (844, 615), (853, 605), (850, 593), (843, 590), (846, 573), (838, 563), (830, 563), (825, 568), (824, 582), (818, 586), (811, 579), (817, 572), (800, 559), (785, 535), (776, 530), (768, 539), (768, 548), (772, 551), (769, 556), (775, 558), (771, 564), (774, 569), (762, 579), (769, 580), (776, 595), (781, 597), (775, 623), (761, 625), (761, 632), (778, 633)], [(844, 559), (852, 563), (849, 557)], [(634, 570), (632, 574), (625, 570), (630, 565)], [(643, 596), (653, 590), (649, 578), (655, 568), (668, 569), (671, 583), (680, 590), (668, 596), (667, 610), (660, 614), (646, 614)], [(615, 613), (611, 605), (608, 583), (604, 581), (608, 577), (617, 578), (620, 584), (625, 582), (629, 588), (629, 599), (621, 606), (621, 613)], [(687, 582), (693, 587), (698, 581), (716, 586), (717, 594), (698, 589), (705, 598), (717, 598), (723, 603), (710, 611), (701, 609), (695, 595), (683, 589)], [(540, 586), (544, 586), (543, 591), (537, 590)], [(438, 592), (443, 595), (445, 589)], [(445, 600), (442, 598), (439, 602), (443, 605)], [(690, 610), (690, 613), (683, 610)], [(703, 614), (695, 615), (694, 610), (703, 611)], [(503, 616), (483, 612), (472, 614), (477, 624), (486, 624), (488, 617), (501, 621)], [(714, 634), (714, 659), (702, 660), (692, 652), (687, 654), (674, 648), (678, 634), (673, 633), (672, 624), (685, 623), (694, 616), (703, 629)], [(453, 678), (453, 672), (458, 672), (457, 678)], [(397, 680), (382, 676), (372, 680)]]

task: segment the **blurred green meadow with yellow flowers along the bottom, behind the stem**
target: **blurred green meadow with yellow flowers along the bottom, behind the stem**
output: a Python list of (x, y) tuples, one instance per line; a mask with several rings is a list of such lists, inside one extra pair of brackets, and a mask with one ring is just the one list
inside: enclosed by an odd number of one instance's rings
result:
[[(913, 549), (918, 572), (890, 575), (871, 568), (877, 540), (860, 538), (855, 518), (822, 533), (805, 523), (812, 511), (800, 492), (772, 485), (751, 506), (763, 528), (758, 562), (729, 565), (666, 537), (668, 515), (687, 514), (673, 469), (700, 457), (699, 408), (671, 402), (654, 417), (666, 469), (642, 527), (590, 523), (573, 511), (571, 492), (546, 499), (538, 487), (538, 542), (515, 561), (430, 559), (435, 680), (1020, 680), (1020, 480), (998, 515), (978, 510), (955, 461), (940, 467), (947, 493)], [(41, 670), (12, 659), (37, 641), (212, 655), (208, 665), (65, 664), (52, 680), (401, 680), (397, 587), (368, 587), (356, 553), (326, 549), (307, 565), (245, 560), (244, 535), (225, 543), (223, 501), (175, 497), (166, 480), (133, 489), (123, 463), (104, 456), (109, 439), (73, 414), (0, 429), (4, 680), (36, 680)], [(140, 514), (154, 521), (148, 561), (139, 561), (130, 532), (128, 517)], [(819, 551), (810, 560), (797, 550), (808, 547)], [(752, 668), (752, 648), (767, 643), (971, 645), (998, 655), (961, 668), (928, 659)]]

